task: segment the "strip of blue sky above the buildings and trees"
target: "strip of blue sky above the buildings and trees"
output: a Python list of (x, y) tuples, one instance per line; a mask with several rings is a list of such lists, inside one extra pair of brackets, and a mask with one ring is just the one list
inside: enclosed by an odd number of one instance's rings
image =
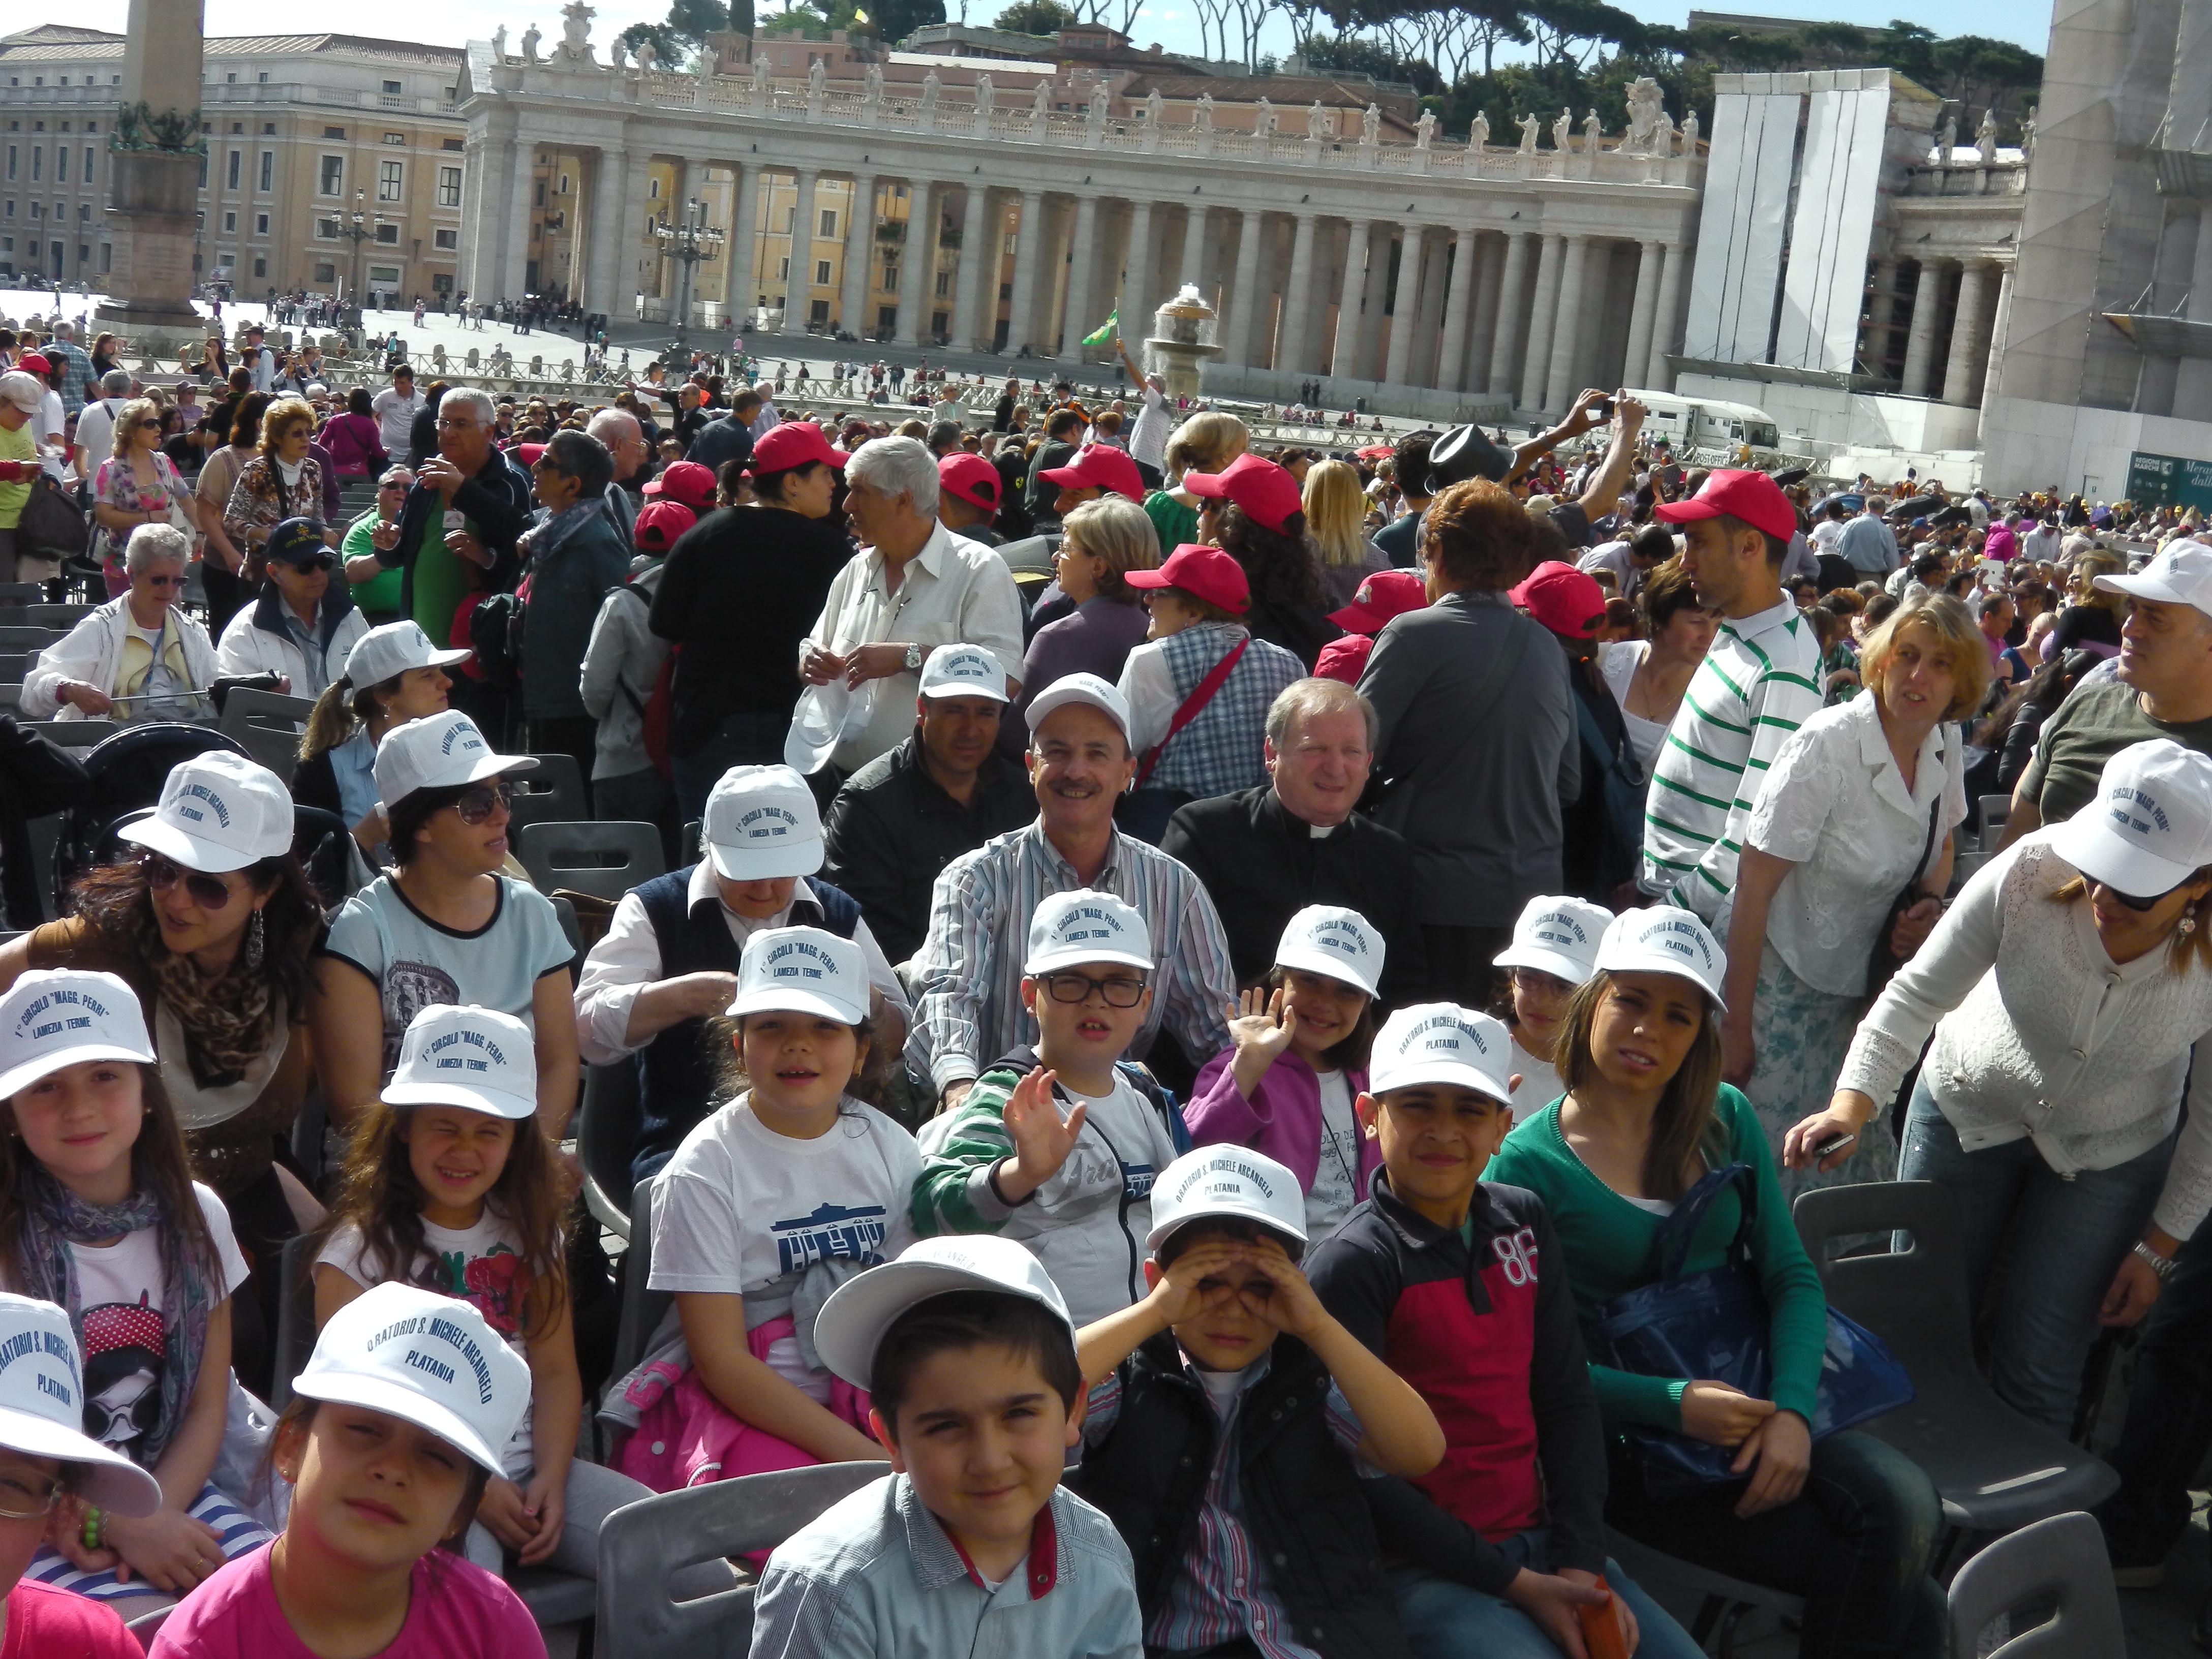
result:
[[(969, 22), (984, 24), (1004, 9), (1006, 0), (969, 0)], [(1829, 18), (1836, 22), (1887, 24), (1896, 15), (1922, 22), (1940, 35), (1993, 35), (2013, 40), (2028, 51), (2044, 51), (2051, 33), (2051, 18), (2037, 4), (2000, 4), (2000, 0), (1951, 0), (1940, 13), (1920, 0), (1909, 9), (1907, 0), (1827, 0), (1825, 4), (1759, 4), (1756, 0), (1708, 0), (1714, 11), (1743, 11), (1785, 18)], [(465, 40), (489, 40), (491, 31), (507, 24), (509, 40), (520, 40), (522, 31), (535, 22), (549, 40), (560, 38), (562, 0), (380, 0), (372, 9), (374, 22), (363, 18), (354, 33), (383, 35), (394, 40), (420, 40), (438, 46), (458, 46)], [(763, 0), (763, 11), (774, 7)], [(1688, 18), (1688, 0), (1628, 0), (1628, 9), (1650, 22), (1681, 24)], [(947, 0), (947, 15), (960, 18), (960, 0)], [(1913, 15), (1918, 11), (1920, 15)], [(128, 0), (77, 0), (69, 20), (86, 29), (122, 31), (128, 15)], [(593, 38), (604, 42), (633, 22), (650, 22), (668, 15), (666, 0), (602, 0), (593, 22)], [(296, 4), (279, 0), (206, 0), (208, 33), (212, 35), (257, 35), (257, 33), (303, 33), (307, 29), (343, 29), (332, 13), (303, 15)], [(1199, 24), (1190, 0), (1148, 0), (1137, 13), (1133, 29), (1137, 44), (1155, 40), (1168, 51), (1199, 51)], [(1265, 46), (1287, 51), (1287, 22), (1274, 31)]]

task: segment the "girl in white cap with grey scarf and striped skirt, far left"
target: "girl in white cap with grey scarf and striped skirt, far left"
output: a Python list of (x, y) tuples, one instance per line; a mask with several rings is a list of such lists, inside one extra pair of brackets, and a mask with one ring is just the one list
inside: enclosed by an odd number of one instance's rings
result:
[(208, 1482), (246, 1259), (113, 973), (33, 969), (0, 998), (0, 1287), (69, 1312), (86, 1433), (161, 1486), (150, 1515), (71, 1509), (29, 1577), (131, 1619), (268, 1540)]

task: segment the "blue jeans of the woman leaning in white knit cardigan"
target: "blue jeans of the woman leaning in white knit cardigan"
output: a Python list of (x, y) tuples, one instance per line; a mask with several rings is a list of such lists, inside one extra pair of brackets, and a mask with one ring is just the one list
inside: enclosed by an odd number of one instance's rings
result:
[[(2168, 1135), (2126, 1164), (2066, 1177), (2028, 1139), (1969, 1152), (1927, 1082), (1913, 1088), (1898, 1179), (1951, 1188), (1975, 1325), (1989, 1327), (1991, 1387), (2057, 1433), (2073, 1433), (2097, 1307), (2119, 1259), (2143, 1237), (2172, 1155)], [(1993, 1285), (2000, 1261), (2004, 1283)]]

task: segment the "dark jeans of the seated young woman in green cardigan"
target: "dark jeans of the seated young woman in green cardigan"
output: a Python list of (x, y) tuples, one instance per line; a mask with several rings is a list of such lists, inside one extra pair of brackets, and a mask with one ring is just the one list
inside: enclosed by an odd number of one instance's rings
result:
[(1606, 1520), (1655, 1551), (1805, 1597), (1801, 1659), (1942, 1659), (1944, 1593), (1929, 1577), (1942, 1500), (1920, 1464), (1874, 1436), (1814, 1442), (1805, 1489), (1736, 1517), (1741, 1482), (1644, 1491), (1615, 1451)]

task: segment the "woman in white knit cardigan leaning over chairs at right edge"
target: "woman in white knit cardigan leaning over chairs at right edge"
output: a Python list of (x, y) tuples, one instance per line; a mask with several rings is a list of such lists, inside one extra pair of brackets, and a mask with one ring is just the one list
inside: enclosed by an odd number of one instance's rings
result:
[(1838, 1168), (1854, 1141), (1832, 1144), (1936, 1033), (1898, 1179), (1958, 1197), (1991, 1383), (2059, 1433), (2097, 1327), (2150, 1312), (2212, 1210), (2208, 894), (2212, 757), (2124, 748), (2088, 805), (1975, 872), (1867, 1011), (1827, 1110), (1783, 1141), (1790, 1168)]

